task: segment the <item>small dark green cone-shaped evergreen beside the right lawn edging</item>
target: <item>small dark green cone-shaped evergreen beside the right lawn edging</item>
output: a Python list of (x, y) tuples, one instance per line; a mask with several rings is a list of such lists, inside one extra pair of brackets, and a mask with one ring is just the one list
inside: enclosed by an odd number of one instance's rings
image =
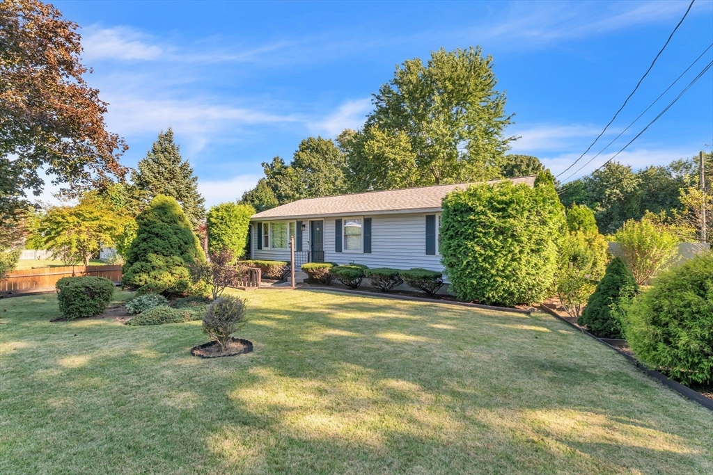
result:
[(624, 261), (619, 257), (613, 259), (577, 323), (587, 326), (600, 338), (622, 338), (621, 323), (612, 314), (612, 306), (619, 303), (622, 296), (634, 293), (637, 289), (634, 276)]

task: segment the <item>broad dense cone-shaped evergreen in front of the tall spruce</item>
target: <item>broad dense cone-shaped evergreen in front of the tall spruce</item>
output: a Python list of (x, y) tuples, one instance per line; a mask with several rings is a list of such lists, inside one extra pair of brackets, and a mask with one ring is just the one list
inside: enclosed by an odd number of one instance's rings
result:
[(192, 290), (189, 266), (205, 254), (190, 222), (172, 197), (163, 194), (137, 217), (136, 238), (126, 254), (122, 283), (180, 296)]

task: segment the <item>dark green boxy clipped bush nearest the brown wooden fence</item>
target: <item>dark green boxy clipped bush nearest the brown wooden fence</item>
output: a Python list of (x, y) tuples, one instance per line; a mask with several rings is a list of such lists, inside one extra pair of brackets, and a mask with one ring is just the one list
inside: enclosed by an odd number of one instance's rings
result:
[(111, 302), (116, 286), (103, 277), (64, 277), (57, 281), (59, 310), (67, 320), (100, 315)]

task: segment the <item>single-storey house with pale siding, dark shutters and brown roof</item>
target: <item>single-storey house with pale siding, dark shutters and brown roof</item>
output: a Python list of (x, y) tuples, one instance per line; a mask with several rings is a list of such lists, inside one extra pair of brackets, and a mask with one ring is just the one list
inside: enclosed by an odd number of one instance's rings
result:
[[(511, 181), (532, 187), (535, 177)], [(294, 236), (297, 263), (355, 262), (372, 268), (443, 271), (438, 254), (441, 202), (446, 194), (469, 185), (392, 189), (283, 204), (252, 216), (250, 256), (289, 261), (289, 238)]]

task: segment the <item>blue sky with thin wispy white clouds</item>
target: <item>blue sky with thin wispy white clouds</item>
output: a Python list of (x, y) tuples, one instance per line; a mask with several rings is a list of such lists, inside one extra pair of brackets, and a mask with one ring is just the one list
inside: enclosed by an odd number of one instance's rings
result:
[[(688, 1), (53, 2), (81, 26), (88, 82), (135, 166), (172, 126), (208, 204), (240, 198), (260, 162), (289, 161), (310, 135), (358, 128), (396, 64), (480, 45), (520, 138), (555, 174), (594, 140), (679, 21)], [(713, 2), (697, 0), (599, 151), (713, 43)], [(625, 145), (713, 58), (691, 68), (619, 141)], [(628, 138), (627, 138), (628, 137)], [(618, 159), (635, 168), (713, 144), (713, 71)], [(588, 157), (590, 157), (589, 155)], [(566, 175), (565, 175), (566, 176)]]

